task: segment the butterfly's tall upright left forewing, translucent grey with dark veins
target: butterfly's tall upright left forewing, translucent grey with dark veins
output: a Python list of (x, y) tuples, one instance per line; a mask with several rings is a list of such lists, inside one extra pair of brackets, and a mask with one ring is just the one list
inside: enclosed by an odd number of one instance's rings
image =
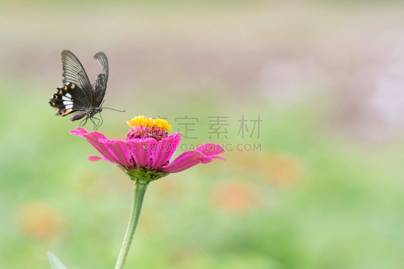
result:
[[(94, 99), (91, 84), (79, 59), (77, 59), (73, 52), (67, 49), (62, 51), (61, 56), (63, 66), (63, 83), (65, 86), (69, 84), (75, 85), (75, 87), (72, 89), (75, 91), (74, 102), (83, 107), (92, 106)], [(72, 93), (70, 92), (70, 94)]]

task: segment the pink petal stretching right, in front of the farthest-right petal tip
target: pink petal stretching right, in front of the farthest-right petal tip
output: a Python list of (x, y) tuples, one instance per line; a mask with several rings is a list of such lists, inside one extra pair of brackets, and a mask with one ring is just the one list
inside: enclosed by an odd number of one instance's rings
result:
[(176, 157), (171, 164), (166, 167), (161, 168), (163, 172), (177, 173), (184, 171), (194, 165), (199, 163), (207, 164), (212, 162), (212, 158), (205, 155), (204, 153), (196, 150), (189, 150), (181, 153)]

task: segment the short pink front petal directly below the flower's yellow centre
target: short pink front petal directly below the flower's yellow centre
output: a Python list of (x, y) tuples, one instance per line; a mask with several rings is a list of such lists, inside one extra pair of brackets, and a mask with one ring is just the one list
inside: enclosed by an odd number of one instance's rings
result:
[(136, 166), (145, 168), (151, 156), (151, 147), (156, 143), (154, 138), (131, 139), (126, 141), (132, 155), (135, 158)]

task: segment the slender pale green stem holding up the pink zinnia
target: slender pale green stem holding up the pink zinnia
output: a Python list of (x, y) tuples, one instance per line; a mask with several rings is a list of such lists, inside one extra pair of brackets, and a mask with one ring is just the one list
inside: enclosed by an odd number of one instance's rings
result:
[(126, 228), (125, 238), (123, 239), (121, 252), (119, 253), (115, 269), (121, 269), (125, 264), (126, 256), (128, 255), (130, 244), (132, 243), (133, 235), (135, 234), (136, 225), (139, 221), (140, 209), (142, 208), (142, 202), (144, 194), (146, 193), (147, 185), (148, 182), (139, 183), (139, 181), (136, 181), (133, 184), (132, 210), (130, 211), (128, 228)]

